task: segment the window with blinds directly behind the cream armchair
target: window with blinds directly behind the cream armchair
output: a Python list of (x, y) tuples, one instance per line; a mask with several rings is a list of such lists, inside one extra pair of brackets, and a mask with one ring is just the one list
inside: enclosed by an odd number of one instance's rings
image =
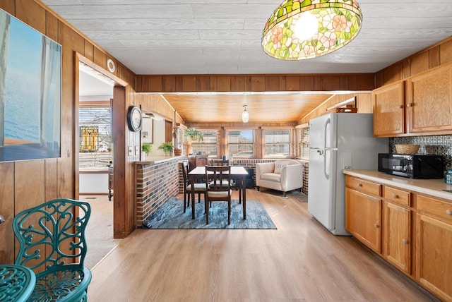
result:
[(264, 157), (290, 156), (290, 130), (263, 131)]

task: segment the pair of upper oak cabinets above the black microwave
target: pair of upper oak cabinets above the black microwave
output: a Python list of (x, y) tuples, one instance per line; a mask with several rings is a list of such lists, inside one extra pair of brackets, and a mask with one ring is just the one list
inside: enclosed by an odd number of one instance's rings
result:
[(452, 133), (452, 64), (432, 68), (372, 92), (374, 135)]

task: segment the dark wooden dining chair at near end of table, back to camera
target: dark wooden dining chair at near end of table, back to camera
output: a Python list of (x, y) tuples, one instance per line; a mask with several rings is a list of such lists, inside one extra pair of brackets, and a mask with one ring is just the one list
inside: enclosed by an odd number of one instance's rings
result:
[(215, 201), (227, 202), (227, 224), (231, 224), (231, 166), (206, 166), (206, 188), (206, 224), (209, 224), (209, 206)]

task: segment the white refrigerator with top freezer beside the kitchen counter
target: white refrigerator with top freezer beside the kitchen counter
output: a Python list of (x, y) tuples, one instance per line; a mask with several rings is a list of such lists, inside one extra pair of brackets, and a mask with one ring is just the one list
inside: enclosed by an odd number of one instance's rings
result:
[(309, 121), (308, 210), (334, 235), (345, 231), (343, 169), (377, 169), (387, 138), (374, 138), (372, 114), (331, 113)]

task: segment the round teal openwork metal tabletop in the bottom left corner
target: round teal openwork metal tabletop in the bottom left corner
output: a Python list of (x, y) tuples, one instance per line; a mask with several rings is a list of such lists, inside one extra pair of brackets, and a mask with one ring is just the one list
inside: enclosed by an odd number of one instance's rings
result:
[(27, 301), (36, 285), (35, 273), (23, 265), (0, 265), (0, 301)]

